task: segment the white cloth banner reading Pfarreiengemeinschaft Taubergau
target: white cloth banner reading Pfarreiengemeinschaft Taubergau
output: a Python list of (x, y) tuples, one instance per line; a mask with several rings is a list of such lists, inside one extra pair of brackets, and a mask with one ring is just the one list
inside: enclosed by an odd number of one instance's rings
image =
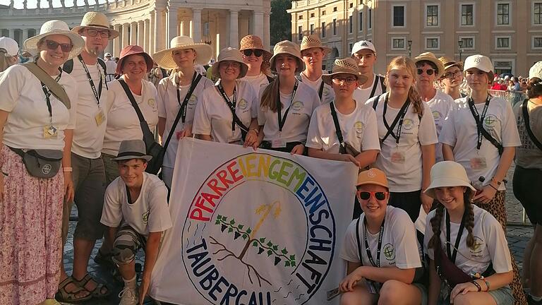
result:
[[(357, 167), (181, 140), (150, 295), (174, 304), (328, 304), (345, 274)], [(338, 304), (338, 299), (329, 304)]]

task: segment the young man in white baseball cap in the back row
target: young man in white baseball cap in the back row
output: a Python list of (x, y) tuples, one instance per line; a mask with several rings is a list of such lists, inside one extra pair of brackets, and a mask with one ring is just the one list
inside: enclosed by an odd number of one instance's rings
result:
[(368, 40), (356, 42), (352, 47), (352, 58), (356, 59), (361, 75), (367, 77), (367, 81), (354, 91), (354, 100), (365, 103), (371, 97), (386, 92), (384, 76), (376, 75), (373, 70), (376, 62), (375, 45)]

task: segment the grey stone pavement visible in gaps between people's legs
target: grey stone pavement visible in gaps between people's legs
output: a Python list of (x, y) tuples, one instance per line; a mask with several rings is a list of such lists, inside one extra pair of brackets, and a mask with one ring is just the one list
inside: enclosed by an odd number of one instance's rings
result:
[[(508, 225), (507, 227), (507, 240), (508, 240), (508, 246), (510, 247), (510, 251), (512, 251), (512, 254), (514, 255), (514, 258), (516, 258), (519, 270), (521, 272), (523, 267), (523, 251), (525, 249), (525, 245), (529, 239), (533, 236), (533, 229), (530, 226), (522, 226), (522, 215), (523, 215), (523, 208), (522, 205), (519, 204), (519, 201), (517, 201), (516, 198), (514, 198), (514, 193), (512, 192), (512, 174), (513, 174), (514, 165), (510, 168), (510, 171), (507, 175), (507, 180), (509, 181), (507, 184), (507, 203), (506, 203), (506, 211), (508, 215), (508, 222), (512, 222), (514, 225)], [(75, 209), (74, 209), (75, 210)], [(76, 215), (76, 211), (73, 212), (73, 216)], [(527, 220), (529, 223), (529, 220)], [(66, 244), (66, 249), (64, 250), (66, 252), (66, 257), (64, 259), (64, 266), (66, 267), (66, 272), (71, 274), (72, 265), (73, 265), (73, 230), (75, 229), (76, 222), (70, 223), (70, 233), (68, 235), (68, 242)], [(102, 282), (107, 282), (107, 285), (110, 289), (113, 290), (113, 293), (107, 298), (107, 299), (91, 299), (90, 301), (86, 301), (79, 304), (85, 304), (85, 305), (113, 305), (113, 304), (119, 304), (119, 297), (117, 295), (122, 289), (122, 285), (119, 282), (115, 282), (112, 279), (111, 273), (109, 270), (105, 270), (100, 265), (97, 265), (92, 258), (96, 255), (98, 249), (100, 248), (102, 244), (102, 241), (97, 241), (95, 249), (92, 251), (90, 263), (89, 263), (89, 272), (92, 275), (92, 277), (95, 277), (96, 279), (100, 279)], [(143, 265), (143, 251), (139, 252), (139, 255), (136, 258), (136, 263), (140, 263)], [(147, 299), (145, 301), (145, 305), (151, 305), (155, 304), (153, 301)]]

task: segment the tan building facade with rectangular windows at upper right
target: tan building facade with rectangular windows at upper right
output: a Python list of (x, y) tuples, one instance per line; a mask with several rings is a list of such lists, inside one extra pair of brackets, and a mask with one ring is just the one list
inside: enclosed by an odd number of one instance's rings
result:
[(542, 60), (542, 0), (301, 0), (288, 12), (294, 42), (313, 33), (334, 48), (327, 67), (358, 40), (375, 44), (379, 73), (421, 52), (484, 54), (498, 73), (523, 76)]

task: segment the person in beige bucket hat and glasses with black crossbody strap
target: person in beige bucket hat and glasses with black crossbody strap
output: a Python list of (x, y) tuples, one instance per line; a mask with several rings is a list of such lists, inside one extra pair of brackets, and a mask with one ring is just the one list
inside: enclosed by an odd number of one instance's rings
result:
[(241, 52), (226, 48), (218, 54), (212, 66), (212, 74), (220, 79), (212, 88), (203, 91), (201, 102), (195, 107), (193, 133), (203, 140), (220, 143), (253, 145), (257, 138), (255, 131), (248, 128), (255, 125), (258, 95), (252, 85), (239, 80), (246, 75), (248, 66)]

